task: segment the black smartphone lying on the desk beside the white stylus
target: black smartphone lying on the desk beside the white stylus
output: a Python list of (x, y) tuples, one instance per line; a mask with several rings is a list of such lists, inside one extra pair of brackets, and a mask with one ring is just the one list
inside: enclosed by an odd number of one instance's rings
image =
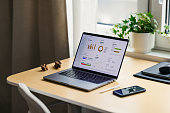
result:
[(124, 97), (124, 96), (141, 93), (141, 92), (145, 92), (145, 91), (146, 91), (146, 89), (142, 88), (140, 86), (131, 86), (131, 87), (115, 90), (115, 91), (113, 91), (113, 94), (120, 96), (120, 97)]

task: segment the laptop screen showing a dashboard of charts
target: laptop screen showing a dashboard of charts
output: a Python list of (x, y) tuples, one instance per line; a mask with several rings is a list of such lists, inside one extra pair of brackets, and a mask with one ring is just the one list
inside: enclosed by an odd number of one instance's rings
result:
[(73, 67), (118, 76), (128, 41), (83, 33)]

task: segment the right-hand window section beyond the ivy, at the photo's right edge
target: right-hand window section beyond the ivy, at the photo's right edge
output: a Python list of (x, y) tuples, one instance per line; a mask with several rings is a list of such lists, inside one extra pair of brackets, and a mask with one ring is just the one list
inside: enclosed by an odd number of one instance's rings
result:
[[(151, 13), (159, 23), (158, 29), (163, 31), (164, 25), (169, 24), (169, 0), (151, 0)], [(170, 38), (156, 34), (155, 49), (170, 51)]]

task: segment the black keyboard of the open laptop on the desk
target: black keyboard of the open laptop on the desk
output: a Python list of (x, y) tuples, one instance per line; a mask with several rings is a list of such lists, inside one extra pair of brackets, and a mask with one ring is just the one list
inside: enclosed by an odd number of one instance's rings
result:
[(67, 77), (79, 79), (79, 80), (84, 80), (84, 81), (96, 83), (96, 84), (99, 84), (99, 83), (102, 83), (102, 82), (105, 82), (105, 81), (112, 79), (112, 78), (109, 78), (109, 77), (100, 76), (98, 74), (84, 72), (84, 71), (81, 71), (81, 70), (66, 70), (64, 72), (60, 72), (59, 74), (67, 76)]

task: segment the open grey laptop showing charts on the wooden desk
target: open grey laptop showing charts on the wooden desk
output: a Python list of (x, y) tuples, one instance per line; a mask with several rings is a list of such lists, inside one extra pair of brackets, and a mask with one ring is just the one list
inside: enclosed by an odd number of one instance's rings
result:
[(72, 68), (43, 78), (85, 91), (109, 84), (118, 78), (128, 42), (84, 32)]

